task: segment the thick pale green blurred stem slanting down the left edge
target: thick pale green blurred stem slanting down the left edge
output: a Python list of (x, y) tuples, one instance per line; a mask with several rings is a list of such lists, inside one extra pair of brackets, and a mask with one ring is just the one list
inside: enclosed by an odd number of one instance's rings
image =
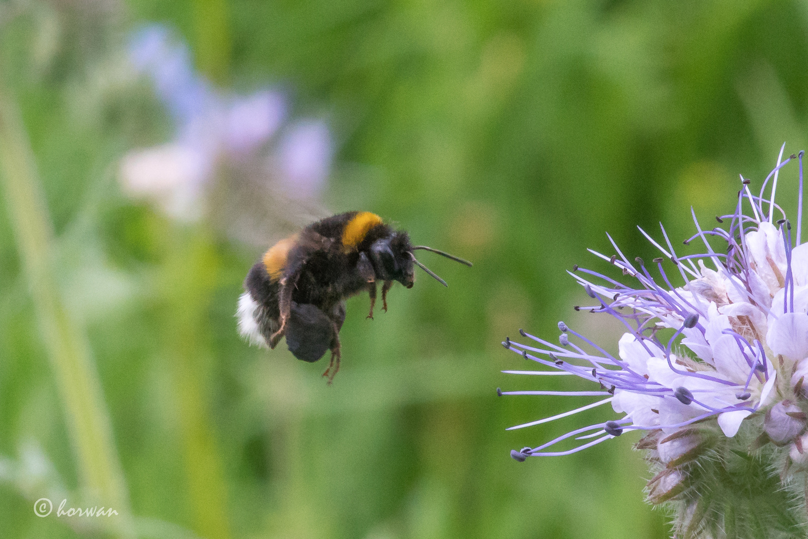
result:
[(0, 89), (0, 177), (40, 330), (65, 406), (87, 501), (115, 509), (119, 537), (133, 537), (123, 470), (112, 437), (103, 391), (86, 336), (57, 292), (51, 253), (53, 230), (31, 145), (15, 103)]

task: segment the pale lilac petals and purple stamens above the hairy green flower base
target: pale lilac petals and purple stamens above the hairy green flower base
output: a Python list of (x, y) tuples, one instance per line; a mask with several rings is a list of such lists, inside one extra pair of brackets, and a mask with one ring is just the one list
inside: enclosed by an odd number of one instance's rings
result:
[[(802, 156), (801, 152), (795, 234), (791, 222), (773, 200), (778, 172), (797, 158), (791, 156), (785, 161), (778, 159), (760, 196), (752, 195), (749, 181), (742, 177), (743, 189), (735, 212), (718, 218), (721, 222), (728, 221), (727, 228), (702, 230), (693, 216), (698, 232), (688, 242), (701, 239), (706, 252), (679, 257), (664, 229), (667, 246), (655, 242), (641, 229), (663, 254), (654, 259), (653, 266), (646, 267), (642, 259), (629, 262), (614, 242), (617, 255), (612, 257), (591, 251), (620, 267), (624, 275), (632, 276), (640, 286), (574, 268), (571, 275), (599, 303), (576, 309), (611, 314), (628, 328), (619, 341), (619, 357), (608, 354), (560, 322), (559, 344), (524, 332), (522, 335), (541, 346), (510, 339), (503, 343), (526, 359), (556, 372), (506, 372), (572, 374), (600, 383), (601, 391), (499, 393), (605, 398), (574, 411), (511, 428), (560, 419), (607, 402), (611, 402), (614, 411), (625, 415), (575, 429), (537, 448), (513, 451), (512, 457), (524, 461), (528, 456), (564, 455), (625, 431), (659, 429), (670, 440), (657, 447), (659, 458), (667, 462), (698, 443), (691, 436), (670, 436), (683, 427), (717, 416), (723, 434), (732, 437), (743, 419), (767, 407), (764, 428), (769, 439), (780, 445), (793, 443), (792, 460), (808, 461), (808, 454), (803, 457), (803, 444), (808, 445), (808, 437), (805, 440), (800, 437), (806, 430), (806, 418), (794, 405), (803, 397), (803, 384), (808, 377), (808, 243), (801, 243), (800, 227)], [(767, 200), (764, 192), (772, 177), (771, 196)], [(714, 251), (709, 239), (725, 243), (726, 251)], [(675, 267), (684, 285), (674, 287), (666, 267)], [(652, 272), (659, 276), (652, 276)], [(595, 440), (566, 451), (545, 451), (573, 437)]]

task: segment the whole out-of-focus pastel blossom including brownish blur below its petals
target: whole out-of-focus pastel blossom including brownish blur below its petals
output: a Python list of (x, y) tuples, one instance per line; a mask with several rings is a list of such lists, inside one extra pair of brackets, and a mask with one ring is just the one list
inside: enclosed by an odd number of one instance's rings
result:
[[(299, 225), (322, 213), (318, 198), (333, 154), (323, 120), (293, 120), (279, 91), (217, 91), (193, 69), (187, 46), (162, 25), (136, 32), (129, 57), (151, 79), (176, 134), (124, 156), (124, 192), (153, 200), (181, 221), (216, 214), (236, 236), (256, 242), (266, 242), (267, 227)], [(213, 200), (205, 195), (216, 179), (225, 188)]]

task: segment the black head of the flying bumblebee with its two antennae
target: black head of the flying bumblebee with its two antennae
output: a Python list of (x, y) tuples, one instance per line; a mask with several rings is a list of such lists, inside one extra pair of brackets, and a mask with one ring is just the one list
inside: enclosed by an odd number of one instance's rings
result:
[(443, 255), (448, 259), (456, 262), (463, 263), (466, 266), (471, 266), (468, 260), (457, 258), (457, 256), (449, 255), (444, 251), (438, 251), (431, 247), (417, 245), (413, 246), (410, 243), (410, 236), (403, 230), (393, 232), (385, 238), (377, 239), (370, 246), (370, 259), (372, 260), (376, 276), (380, 280), (398, 280), (399, 283), (412, 288), (415, 283), (415, 265), (423, 269), (430, 276), (434, 277), (440, 284), (448, 286), (446, 281), (437, 276), (434, 272), (415, 259), (412, 251), (423, 249), (423, 251), (431, 251), (438, 255)]

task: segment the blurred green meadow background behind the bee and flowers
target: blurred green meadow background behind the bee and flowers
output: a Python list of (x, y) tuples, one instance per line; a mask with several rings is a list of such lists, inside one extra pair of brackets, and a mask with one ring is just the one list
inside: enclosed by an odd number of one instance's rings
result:
[[(156, 23), (211, 91), (278, 92), (292, 126), (217, 150), (193, 217), (121, 187), (126, 156), (183, 137), (133, 67)], [(806, 99), (808, 2), (3, 0), (0, 537), (667, 537), (637, 436), (509, 457), (613, 412), (505, 432), (591, 398), (497, 398), (583, 384), (501, 374), (524, 362), (499, 342), (564, 319), (613, 351), (564, 270), (606, 230), (652, 257), (635, 225), (678, 242), (691, 204), (729, 211), (739, 173), (802, 149)], [(267, 195), (309, 120), (325, 175)], [(267, 246), (349, 209), (474, 267), (423, 255), (449, 288), (421, 274), (373, 321), (348, 301), (328, 387), (234, 310)], [(38, 518), (42, 497), (120, 515)]]

